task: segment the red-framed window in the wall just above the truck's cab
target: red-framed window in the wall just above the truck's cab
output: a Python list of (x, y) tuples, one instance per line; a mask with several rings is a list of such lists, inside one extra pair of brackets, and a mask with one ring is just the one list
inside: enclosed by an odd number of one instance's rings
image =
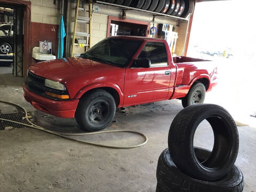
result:
[(147, 37), (149, 23), (133, 19), (122, 20), (118, 17), (108, 17), (107, 36), (142, 36)]

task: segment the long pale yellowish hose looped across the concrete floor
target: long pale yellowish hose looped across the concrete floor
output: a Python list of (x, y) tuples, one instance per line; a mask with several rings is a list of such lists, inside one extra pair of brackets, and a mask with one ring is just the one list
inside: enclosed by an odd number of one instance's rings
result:
[[(51, 133), (51, 134), (57, 135), (57, 136), (62, 137), (62, 138), (66, 138), (66, 139), (70, 139), (70, 140), (74, 140), (74, 141), (79, 141), (79, 142), (90, 144), (90, 145), (94, 145), (94, 146), (107, 147), (107, 148), (115, 148), (115, 149), (137, 148), (137, 147), (141, 147), (141, 146), (145, 145), (148, 142), (148, 138), (147, 138), (147, 136), (145, 134), (137, 132), (137, 131), (129, 131), (129, 130), (127, 130), (127, 131), (124, 131), (124, 130), (99, 131), (99, 132), (92, 132), (92, 133), (59, 133), (59, 132), (50, 131), (50, 130), (47, 130), (47, 129), (41, 127), (41, 126), (38, 126), (38, 125), (35, 125), (34, 123), (32, 123), (29, 120), (27, 110), (24, 107), (22, 107), (22, 106), (20, 106), (20, 105), (18, 105), (16, 103), (9, 102), (9, 101), (2, 101), (2, 100), (0, 100), (0, 102), (6, 103), (7, 105), (17, 106), (17, 107), (21, 108), (25, 112), (25, 118), (30, 123), (30, 125), (24, 124), (24, 123), (20, 123), (20, 122), (11, 121), (11, 120), (8, 120), (8, 119), (3, 119), (3, 118), (0, 118), (1, 121), (6, 121), (6, 122), (11, 122), (11, 123), (15, 123), (15, 124), (24, 125), (26, 127), (37, 129), (37, 130), (44, 131), (44, 132), (47, 132), (47, 133)], [(102, 144), (99, 144), (99, 143), (94, 143), (94, 142), (89, 142), (89, 141), (84, 141), (84, 140), (68, 137), (68, 135), (69, 136), (77, 136), (77, 135), (91, 135), (91, 134), (114, 133), (114, 132), (135, 133), (135, 134), (141, 135), (145, 139), (145, 142), (143, 142), (143, 143), (141, 143), (139, 145), (135, 145), (135, 146), (110, 146), (110, 145), (102, 145)]]

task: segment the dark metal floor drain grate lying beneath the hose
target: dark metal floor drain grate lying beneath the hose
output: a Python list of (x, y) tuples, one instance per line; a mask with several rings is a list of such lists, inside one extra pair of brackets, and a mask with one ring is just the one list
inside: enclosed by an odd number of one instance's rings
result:
[[(0, 114), (0, 118), (8, 119), (8, 120), (15, 121), (15, 122), (29, 124), (26, 119), (23, 119), (23, 117), (25, 117), (25, 113)], [(6, 121), (0, 121), (0, 130), (5, 130), (5, 127), (23, 128), (25, 126), (20, 125), (20, 124), (11, 123), (11, 122), (6, 122)]]

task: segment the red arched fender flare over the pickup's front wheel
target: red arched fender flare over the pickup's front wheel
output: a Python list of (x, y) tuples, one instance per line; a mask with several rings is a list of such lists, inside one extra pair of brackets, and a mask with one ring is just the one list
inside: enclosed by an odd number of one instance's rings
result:
[(111, 82), (109, 82), (109, 83), (93, 83), (90, 85), (86, 85), (81, 90), (78, 91), (78, 93), (75, 95), (75, 98), (80, 99), (86, 92), (88, 92), (92, 89), (100, 88), (100, 87), (111, 87), (111, 88), (115, 89), (117, 91), (117, 93), (119, 94), (119, 98), (120, 98), (120, 103), (119, 103), (118, 107), (123, 106), (124, 93), (117, 84), (111, 83)]

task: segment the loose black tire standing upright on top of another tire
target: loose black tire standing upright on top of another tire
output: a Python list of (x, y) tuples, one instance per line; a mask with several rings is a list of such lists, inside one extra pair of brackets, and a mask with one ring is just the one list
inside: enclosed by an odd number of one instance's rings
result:
[[(214, 132), (211, 156), (200, 162), (194, 151), (194, 135), (198, 125), (206, 119)], [(233, 167), (239, 148), (239, 136), (234, 119), (218, 105), (189, 106), (173, 119), (168, 146), (175, 165), (195, 179), (217, 181)]]

